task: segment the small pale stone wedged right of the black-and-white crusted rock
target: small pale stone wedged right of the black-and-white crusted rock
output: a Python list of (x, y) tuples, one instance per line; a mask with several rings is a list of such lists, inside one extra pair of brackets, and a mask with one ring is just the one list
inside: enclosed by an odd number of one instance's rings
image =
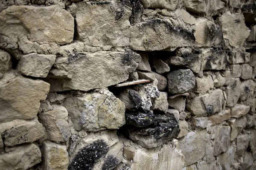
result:
[(168, 110), (168, 101), (167, 101), (168, 94), (167, 92), (160, 92), (160, 95), (154, 100), (152, 109), (154, 111), (162, 111), (166, 113)]

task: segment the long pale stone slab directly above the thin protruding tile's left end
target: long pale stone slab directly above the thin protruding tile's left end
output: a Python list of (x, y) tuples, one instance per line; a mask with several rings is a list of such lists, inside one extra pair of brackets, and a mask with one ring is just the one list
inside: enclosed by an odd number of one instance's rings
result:
[(59, 78), (67, 78), (62, 89), (88, 91), (118, 84), (128, 79), (140, 62), (140, 55), (100, 51), (96, 53), (74, 52), (55, 60), (50, 72)]

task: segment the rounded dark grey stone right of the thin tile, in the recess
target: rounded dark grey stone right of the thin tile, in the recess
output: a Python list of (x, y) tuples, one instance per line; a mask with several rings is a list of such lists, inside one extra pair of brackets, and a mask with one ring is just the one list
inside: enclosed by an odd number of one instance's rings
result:
[(167, 78), (169, 93), (184, 93), (195, 86), (195, 75), (189, 69), (171, 71)]

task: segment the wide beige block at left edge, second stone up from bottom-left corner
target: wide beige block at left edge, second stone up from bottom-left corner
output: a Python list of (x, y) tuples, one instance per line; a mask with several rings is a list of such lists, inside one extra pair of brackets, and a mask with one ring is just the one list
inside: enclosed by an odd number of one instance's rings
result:
[(37, 118), (32, 120), (13, 120), (0, 124), (0, 134), (6, 146), (32, 143), (44, 136), (43, 125)]

